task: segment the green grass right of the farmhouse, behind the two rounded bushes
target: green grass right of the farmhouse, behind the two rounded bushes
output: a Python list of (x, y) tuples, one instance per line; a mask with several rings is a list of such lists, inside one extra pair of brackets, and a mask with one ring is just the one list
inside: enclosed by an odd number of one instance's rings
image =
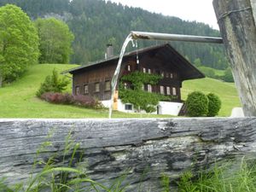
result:
[(230, 116), (232, 108), (241, 107), (234, 83), (226, 83), (217, 79), (195, 79), (183, 82), (182, 98), (186, 100), (188, 94), (200, 90), (205, 94), (215, 93), (220, 97), (222, 107), (218, 116)]

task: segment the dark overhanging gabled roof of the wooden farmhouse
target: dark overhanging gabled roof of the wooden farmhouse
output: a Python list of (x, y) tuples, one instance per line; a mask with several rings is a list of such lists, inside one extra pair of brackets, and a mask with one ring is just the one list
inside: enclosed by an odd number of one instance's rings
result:
[[(175, 66), (179, 70), (179, 73), (181, 73), (182, 80), (205, 78), (205, 75), (203, 73), (201, 73), (188, 60), (186, 60), (183, 57), (183, 55), (180, 55), (177, 52), (177, 50), (174, 49), (170, 44), (161, 44), (161, 45), (152, 46), (148, 48), (138, 49), (136, 51), (131, 51), (124, 55), (123, 61), (125, 59), (128, 59), (129, 57), (136, 56), (137, 54), (142, 55), (144, 53), (149, 53), (149, 52), (154, 52), (155, 55), (157, 55), (162, 60), (166, 61), (166, 63), (172, 64), (173, 66)], [(79, 72), (80, 70), (84, 71), (86, 70), (86, 68), (89, 69), (91, 67), (96, 67), (96, 66), (100, 67), (102, 65), (113, 63), (114, 61), (116, 61), (116, 64), (117, 64), (118, 60), (119, 60), (119, 55), (113, 56), (106, 60), (92, 62), (86, 66), (75, 67), (73, 69), (69, 69), (62, 73), (73, 74), (73, 73)]]

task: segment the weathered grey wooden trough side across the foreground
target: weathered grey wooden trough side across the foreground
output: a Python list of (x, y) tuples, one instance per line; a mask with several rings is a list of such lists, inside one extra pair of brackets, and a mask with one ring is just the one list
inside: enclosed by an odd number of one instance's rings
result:
[(138, 183), (160, 191), (161, 173), (174, 180), (191, 167), (256, 151), (256, 118), (0, 119), (1, 177), (6, 183), (29, 177), (38, 148), (52, 143), (39, 155), (47, 160), (63, 150), (70, 130), (90, 177), (111, 181), (129, 169), (131, 191)]

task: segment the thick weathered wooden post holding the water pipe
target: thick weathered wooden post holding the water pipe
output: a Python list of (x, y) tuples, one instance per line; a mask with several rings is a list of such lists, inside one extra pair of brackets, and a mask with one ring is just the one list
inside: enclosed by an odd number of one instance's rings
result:
[(213, 0), (218, 26), (246, 116), (256, 116), (254, 3), (254, 0)]

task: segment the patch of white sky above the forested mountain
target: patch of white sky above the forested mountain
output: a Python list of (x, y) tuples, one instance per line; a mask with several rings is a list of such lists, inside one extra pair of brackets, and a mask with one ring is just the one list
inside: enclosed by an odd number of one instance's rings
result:
[(212, 0), (110, 0), (130, 7), (139, 7), (162, 15), (177, 16), (182, 20), (196, 20), (218, 29)]

